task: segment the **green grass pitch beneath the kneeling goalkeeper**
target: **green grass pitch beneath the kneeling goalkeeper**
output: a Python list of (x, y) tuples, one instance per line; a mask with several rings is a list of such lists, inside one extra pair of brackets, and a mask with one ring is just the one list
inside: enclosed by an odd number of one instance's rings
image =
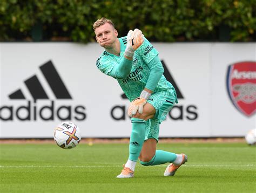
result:
[(139, 163), (133, 178), (118, 179), (129, 144), (0, 144), (0, 192), (256, 192), (256, 147), (245, 143), (159, 143), (185, 153), (175, 176), (167, 164)]

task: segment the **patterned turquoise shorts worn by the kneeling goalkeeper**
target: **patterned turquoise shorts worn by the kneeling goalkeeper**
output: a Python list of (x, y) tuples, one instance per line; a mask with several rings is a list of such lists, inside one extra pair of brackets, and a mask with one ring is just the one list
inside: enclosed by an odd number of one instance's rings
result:
[(156, 114), (153, 119), (146, 122), (145, 140), (156, 139), (158, 141), (159, 125), (166, 119), (172, 107), (178, 103), (177, 94), (174, 89), (153, 93), (147, 102), (156, 109)]

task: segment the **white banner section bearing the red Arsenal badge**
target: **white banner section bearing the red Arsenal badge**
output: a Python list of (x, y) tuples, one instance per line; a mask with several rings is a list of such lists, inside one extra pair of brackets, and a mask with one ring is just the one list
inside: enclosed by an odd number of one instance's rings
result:
[(212, 44), (210, 85), (211, 136), (242, 136), (256, 128), (255, 43)]

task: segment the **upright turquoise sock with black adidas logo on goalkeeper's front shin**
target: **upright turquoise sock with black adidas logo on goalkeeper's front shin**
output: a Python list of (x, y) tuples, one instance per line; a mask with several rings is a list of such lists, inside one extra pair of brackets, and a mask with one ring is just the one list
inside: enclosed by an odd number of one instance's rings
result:
[(144, 143), (146, 135), (146, 121), (143, 119), (132, 118), (132, 133), (129, 145), (129, 160), (136, 162)]

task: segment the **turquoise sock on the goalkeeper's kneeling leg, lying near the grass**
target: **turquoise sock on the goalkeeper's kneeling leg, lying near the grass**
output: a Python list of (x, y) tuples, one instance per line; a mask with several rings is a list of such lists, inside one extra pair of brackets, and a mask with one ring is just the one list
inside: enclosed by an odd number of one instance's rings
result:
[(177, 155), (168, 151), (163, 150), (156, 150), (156, 155), (149, 161), (149, 162), (143, 162), (140, 161), (140, 163), (143, 166), (155, 166), (167, 162), (174, 162), (177, 158)]

